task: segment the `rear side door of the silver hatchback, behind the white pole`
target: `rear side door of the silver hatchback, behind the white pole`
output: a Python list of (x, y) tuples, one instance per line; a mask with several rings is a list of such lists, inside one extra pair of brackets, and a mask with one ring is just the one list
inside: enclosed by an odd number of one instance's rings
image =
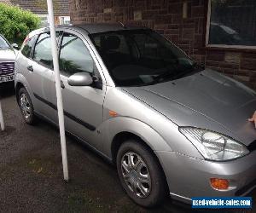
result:
[[(57, 33), (59, 37), (60, 32)], [(38, 36), (32, 53), (32, 60), (27, 66), (30, 85), (35, 97), (35, 109), (42, 115), (55, 121), (56, 107), (51, 103), (52, 90), (55, 88), (53, 60), (49, 32)]]

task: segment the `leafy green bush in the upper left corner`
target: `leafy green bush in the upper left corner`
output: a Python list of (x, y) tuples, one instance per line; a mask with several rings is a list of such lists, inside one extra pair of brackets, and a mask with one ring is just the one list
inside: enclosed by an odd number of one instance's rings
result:
[(0, 3), (0, 33), (9, 43), (21, 44), (26, 35), (40, 25), (40, 18), (32, 12)]

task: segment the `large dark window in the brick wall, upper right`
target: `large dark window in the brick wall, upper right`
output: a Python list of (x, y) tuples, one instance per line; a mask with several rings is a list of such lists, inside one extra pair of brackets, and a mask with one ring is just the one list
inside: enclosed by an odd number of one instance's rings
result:
[(209, 0), (207, 47), (256, 49), (256, 1)]

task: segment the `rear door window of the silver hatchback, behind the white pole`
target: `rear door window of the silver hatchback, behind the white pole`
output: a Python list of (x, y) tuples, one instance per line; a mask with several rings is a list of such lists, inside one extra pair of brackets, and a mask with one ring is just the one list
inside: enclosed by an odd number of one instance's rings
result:
[[(60, 32), (56, 32), (56, 37), (58, 40), (60, 37)], [(49, 32), (43, 33), (38, 37), (38, 41), (34, 49), (33, 59), (37, 60), (44, 66), (48, 66), (49, 68), (53, 67)]]

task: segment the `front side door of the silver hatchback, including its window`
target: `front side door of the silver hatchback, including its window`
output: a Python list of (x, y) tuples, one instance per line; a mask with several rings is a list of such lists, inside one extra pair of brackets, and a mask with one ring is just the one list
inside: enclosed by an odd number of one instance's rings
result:
[[(96, 64), (84, 41), (71, 33), (64, 33), (60, 48), (60, 72), (66, 130), (79, 136), (97, 149), (102, 149), (102, 106), (105, 86), (70, 86), (67, 79), (77, 72), (90, 72), (101, 81)], [(55, 101), (56, 103), (56, 101)]]

